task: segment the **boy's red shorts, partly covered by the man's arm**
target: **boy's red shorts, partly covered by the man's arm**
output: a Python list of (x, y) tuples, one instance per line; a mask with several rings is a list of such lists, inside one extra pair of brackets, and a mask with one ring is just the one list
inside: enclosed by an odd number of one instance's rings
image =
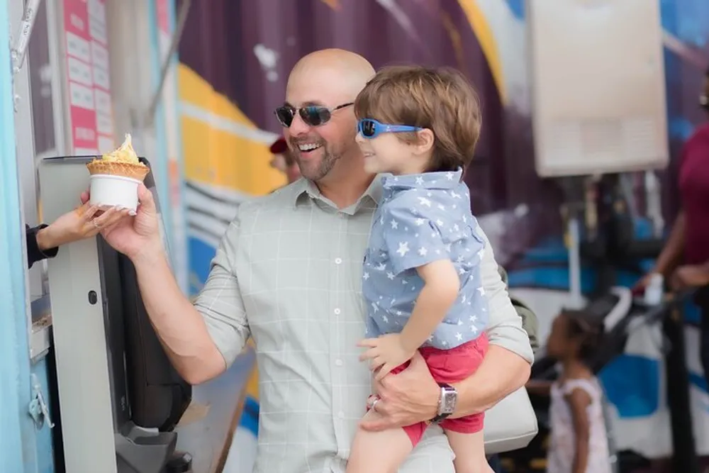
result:
[[(439, 350), (434, 347), (422, 347), (418, 350), (430, 370), (433, 379), (439, 383), (457, 383), (470, 377), (476, 372), (485, 357), (488, 349), (487, 335), (483, 334), (471, 342), (459, 345), (451, 350)], [(391, 373), (396, 374), (408, 367), (408, 362), (394, 368)], [(445, 419), (440, 426), (446, 430), (460, 433), (476, 433), (483, 430), (485, 413), (455, 419)], [(423, 437), (428, 424), (425, 422), (407, 425), (403, 430), (411, 439), (415, 447)]]

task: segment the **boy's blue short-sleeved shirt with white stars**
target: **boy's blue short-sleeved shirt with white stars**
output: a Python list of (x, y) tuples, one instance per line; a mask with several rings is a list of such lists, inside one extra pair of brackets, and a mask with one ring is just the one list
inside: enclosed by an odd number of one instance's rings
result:
[(382, 177), (384, 192), (362, 272), (367, 338), (401, 332), (423, 288), (416, 268), (444, 259), (455, 266), (460, 290), (425, 346), (449, 350), (478, 338), (486, 328), (487, 299), (480, 275), (485, 243), (461, 174)]

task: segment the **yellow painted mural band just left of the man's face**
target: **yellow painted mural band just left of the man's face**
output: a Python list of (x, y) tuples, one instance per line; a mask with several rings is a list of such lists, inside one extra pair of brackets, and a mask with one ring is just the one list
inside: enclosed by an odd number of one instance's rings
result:
[[(254, 130), (257, 127), (229, 99), (185, 65), (178, 67), (181, 101)], [(269, 163), (267, 145), (191, 116), (182, 116), (185, 177), (202, 184), (263, 195), (285, 184), (285, 177)]]

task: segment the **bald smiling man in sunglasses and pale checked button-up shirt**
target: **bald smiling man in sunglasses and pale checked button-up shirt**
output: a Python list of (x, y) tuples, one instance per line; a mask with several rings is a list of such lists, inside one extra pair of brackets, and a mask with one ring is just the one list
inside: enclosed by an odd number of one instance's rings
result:
[[(381, 395), (379, 420), (363, 425), (372, 430), (428, 421), (447, 405), (418, 359), (381, 386), (371, 385), (359, 362), (362, 258), (381, 187), (364, 171), (352, 104), (372, 74), (369, 62), (342, 50), (313, 52), (296, 64), (277, 116), (303, 179), (241, 204), (194, 306), (164, 259), (149, 191), (140, 187), (133, 223), (104, 230), (133, 261), (150, 319), (184, 379), (218, 376), (254, 338), (261, 404), (255, 472), (344, 473), (373, 387)], [(447, 391), (452, 416), (486, 410), (530, 372), (529, 339), (491, 251), (481, 273), (491, 347), (476, 374)], [(453, 471), (437, 425), (400, 470)]]

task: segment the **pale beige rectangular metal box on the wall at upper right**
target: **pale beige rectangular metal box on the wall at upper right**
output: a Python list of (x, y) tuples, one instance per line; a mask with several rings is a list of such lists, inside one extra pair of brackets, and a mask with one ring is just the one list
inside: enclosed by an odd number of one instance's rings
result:
[(527, 0), (537, 174), (665, 167), (657, 0)]

